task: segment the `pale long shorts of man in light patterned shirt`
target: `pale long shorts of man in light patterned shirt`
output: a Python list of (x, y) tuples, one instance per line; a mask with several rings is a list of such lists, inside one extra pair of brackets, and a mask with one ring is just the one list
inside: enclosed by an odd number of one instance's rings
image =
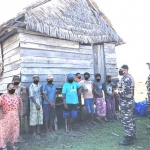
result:
[(40, 110), (36, 109), (36, 106), (30, 107), (30, 126), (43, 124), (43, 110), (42, 105)]

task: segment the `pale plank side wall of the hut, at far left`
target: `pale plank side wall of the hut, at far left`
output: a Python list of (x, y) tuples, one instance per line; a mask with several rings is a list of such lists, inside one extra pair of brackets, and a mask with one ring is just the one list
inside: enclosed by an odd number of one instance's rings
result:
[(19, 34), (15, 34), (2, 43), (3, 73), (0, 77), (0, 93), (6, 91), (6, 85), (14, 75), (20, 75)]

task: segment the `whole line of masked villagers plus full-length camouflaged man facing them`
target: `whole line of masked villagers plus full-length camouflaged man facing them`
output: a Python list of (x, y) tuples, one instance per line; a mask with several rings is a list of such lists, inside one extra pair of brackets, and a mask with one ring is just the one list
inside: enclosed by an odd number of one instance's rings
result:
[[(67, 132), (71, 130), (72, 123), (77, 117), (78, 97), (83, 94), (84, 105), (86, 107), (89, 124), (96, 124), (93, 120), (95, 113), (94, 103), (96, 104), (96, 114), (99, 122), (115, 122), (115, 102), (119, 99), (121, 108), (121, 119), (125, 128), (125, 140), (121, 145), (133, 144), (136, 135), (135, 121), (133, 118), (134, 106), (134, 80), (128, 73), (128, 66), (123, 65), (119, 70), (119, 75), (123, 76), (119, 84), (112, 84), (111, 76), (106, 77), (106, 82), (101, 82), (101, 75), (95, 74), (95, 80), (90, 80), (90, 74), (84, 73), (84, 79), (77, 73), (67, 75), (67, 81), (62, 88), (63, 95), (63, 118), (67, 120)], [(28, 89), (30, 99), (29, 124), (33, 128), (33, 135), (41, 134), (40, 125), (45, 124), (46, 133), (52, 131), (54, 119), (56, 117), (56, 86), (53, 83), (53, 75), (47, 76), (47, 83), (41, 85), (39, 76), (33, 76), (33, 83)], [(20, 87), (21, 79), (14, 76), (12, 83), (7, 85), (7, 93), (0, 96), (0, 147), (7, 150), (7, 142), (12, 143), (13, 150), (17, 147), (14, 143), (19, 139), (19, 115), (25, 119), (25, 108), (27, 104), (20, 97), (26, 95), (25, 87)], [(44, 100), (42, 100), (44, 97)], [(81, 103), (81, 102), (80, 102)], [(24, 106), (23, 106), (24, 104)], [(118, 107), (118, 106), (117, 106)], [(117, 108), (118, 109), (118, 108)]]

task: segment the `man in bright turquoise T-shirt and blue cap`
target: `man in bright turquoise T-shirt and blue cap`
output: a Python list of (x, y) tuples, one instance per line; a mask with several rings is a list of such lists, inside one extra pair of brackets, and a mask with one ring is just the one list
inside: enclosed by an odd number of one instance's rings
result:
[(67, 119), (66, 131), (69, 132), (74, 118), (77, 117), (77, 104), (79, 103), (77, 90), (82, 85), (74, 81), (74, 75), (71, 73), (68, 74), (67, 79), (68, 81), (63, 85), (62, 94), (64, 100), (63, 117)]

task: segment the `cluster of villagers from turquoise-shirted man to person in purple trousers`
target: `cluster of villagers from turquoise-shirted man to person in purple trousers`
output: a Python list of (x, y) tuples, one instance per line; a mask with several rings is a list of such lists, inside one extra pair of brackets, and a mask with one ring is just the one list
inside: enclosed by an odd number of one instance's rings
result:
[[(111, 76), (106, 77), (104, 84), (101, 82), (100, 74), (96, 74), (95, 81), (92, 82), (88, 72), (84, 73), (83, 80), (80, 73), (77, 73), (76, 77), (73, 74), (68, 74), (67, 79), (68, 81), (63, 85), (62, 89), (64, 100), (63, 117), (68, 119), (67, 132), (71, 130), (71, 124), (74, 118), (77, 117), (78, 96), (81, 93), (83, 93), (89, 124), (96, 124), (93, 121), (93, 114), (95, 113), (94, 103), (96, 103), (96, 113), (99, 122), (107, 121), (107, 118), (109, 122), (115, 122), (115, 88), (111, 84)], [(106, 112), (108, 112), (107, 118)]]

